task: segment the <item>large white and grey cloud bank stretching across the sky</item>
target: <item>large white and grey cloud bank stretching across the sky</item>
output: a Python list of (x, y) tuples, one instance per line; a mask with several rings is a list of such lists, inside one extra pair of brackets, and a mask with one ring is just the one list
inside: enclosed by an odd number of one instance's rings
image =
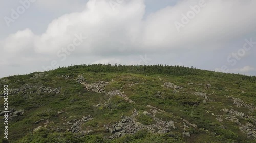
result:
[[(222, 48), (225, 44), (245, 39), (256, 25), (256, 1), (215, 0), (205, 1), (195, 18), (178, 32), (174, 22), (181, 21), (182, 13), (190, 11), (190, 6), (198, 4), (198, 0), (179, 1), (175, 6), (167, 6), (143, 18), (145, 4), (143, 0), (124, 1), (113, 10), (107, 0), (90, 0), (84, 10), (62, 15), (49, 23), (44, 33), (34, 34), (26, 29), (10, 34), (0, 41), (0, 50), (9, 55), (5, 61), (16, 63), (18, 58), (26, 54), (28, 58), (45, 57), (56, 59), (58, 50), (72, 43), (75, 34), (88, 36), (70, 56), (102, 56), (99, 62), (118, 62), (117, 55), (161, 54), (184, 51), (200, 53), (206, 48), (209, 51)], [(42, 7), (58, 9), (62, 1), (38, 1)], [(75, 1), (72, 5), (79, 4)], [(63, 6), (71, 2), (63, 3)], [(108, 57), (103, 57), (108, 56)], [(178, 57), (179, 55), (177, 55)], [(198, 57), (199, 55), (194, 55)], [(119, 61), (123, 61), (118, 58)], [(41, 61), (43, 58), (36, 59)], [(106, 60), (104, 60), (106, 59)], [(184, 58), (183, 58), (184, 59)], [(2, 65), (6, 62), (0, 60)], [(124, 60), (125, 61), (125, 60)], [(134, 60), (126, 63), (134, 63)], [(20, 61), (18, 61), (20, 62)], [(136, 62), (136, 60), (135, 60)], [(178, 61), (187, 64), (187, 61)], [(189, 62), (189, 61), (188, 61)], [(177, 61), (176, 61), (177, 63)], [(20, 62), (20, 64), (22, 64)], [(240, 70), (243, 72), (243, 70)]]

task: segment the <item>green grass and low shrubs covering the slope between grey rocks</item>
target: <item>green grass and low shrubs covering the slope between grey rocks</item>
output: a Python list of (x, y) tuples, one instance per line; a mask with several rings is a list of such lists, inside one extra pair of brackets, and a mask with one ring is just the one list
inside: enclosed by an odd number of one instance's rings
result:
[[(24, 116), (19, 116), (9, 122), (9, 140), (11, 142), (253, 142), (246, 139), (244, 133), (239, 127), (232, 122), (218, 122), (211, 113), (215, 115), (224, 114), (221, 109), (234, 109), (244, 112), (250, 116), (256, 116), (256, 112), (248, 112), (245, 108), (237, 108), (233, 102), (226, 96), (238, 97), (245, 103), (256, 103), (256, 86), (255, 82), (247, 80), (238, 80), (238, 78), (230, 78), (231, 74), (220, 74), (211, 76), (207, 71), (200, 75), (183, 75), (174, 76), (170, 74), (135, 74), (130, 73), (114, 73), (114, 72), (89, 72), (75, 68), (60, 68), (47, 72), (48, 76), (30, 79), (36, 73), (29, 75), (19, 75), (2, 78), (0, 87), (4, 84), (9, 85), (9, 89), (19, 88), (24, 84), (44, 85), (46, 87), (61, 87), (60, 94), (29, 94), (9, 96), (9, 108), (24, 109)], [(56, 75), (71, 75), (69, 79), (56, 77)], [(99, 80), (114, 82), (106, 87), (106, 91), (122, 89), (127, 96), (133, 100), (135, 104), (128, 103), (119, 97), (112, 97), (111, 101), (117, 105), (113, 110), (106, 108), (95, 108), (93, 105), (104, 103), (108, 100), (106, 95), (86, 91), (83, 85), (74, 81), (78, 75), (83, 75), (87, 83), (94, 83)], [(220, 77), (221, 76), (221, 77)], [(240, 76), (239, 76), (240, 77)], [(4, 82), (3, 82), (4, 81)], [(210, 82), (214, 81), (214, 82)], [(132, 87), (128, 84), (139, 82)], [(144, 84), (142, 84), (144, 82)], [(173, 89), (166, 89), (163, 85), (165, 82), (172, 82), (175, 85), (184, 87), (180, 92), (173, 93)], [(194, 82), (195, 85), (188, 85), (188, 82)], [(198, 85), (203, 83), (203, 85)], [(211, 88), (205, 88), (205, 84), (211, 83)], [(227, 91), (229, 90), (229, 91)], [(245, 91), (242, 93), (241, 90)], [(161, 91), (161, 96), (155, 96), (157, 91)], [(211, 100), (203, 104), (203, 97), (193, 95), (194, 92), (204, 92), (209, 95)], [(225, 96), (226, 95), (226, 96)], [(4, 99), (0, 98), (3, 103)], [(182, 136), (182, 130), (172, 130), (168, 134), (152, 134), (145, 130), (138, 132), (136, 135), (127, 135), (114, 140), (103, 140), (103, 136), (109, 136), (110, 133), (104, 130), (103, 125), (119, 121), (122, 115), (131, 115), (134, 108), (139, 111), (148, 110), (144, 105), (152, 105), (166, 112), (172, 113), (170, 116), (157, 115), (163, 120), (173, 120), (180, 123), (176, 117), (187, 119), (189, 122), (198, 125), (202, 129), (190, 129), (192, 133), (190, 138)], [(0, 105), (3, 108), (3, 104)], [(63, 110), (67, 113), (57, 115), (57, 112)], [(209, 113), (207, 113), (207, 111)], [(94, 120), (84, 123), (84, 128), (91, 127), (94, 129), (92, 135), (80, 136), (66, 131), (70, 128), (64, 125), (67, 121), (63, 121), (62, 117), (68, 117), (67, 120), (82, 118), (84, 115), (92, 115)], [(33, 123), (40, 119), (49, 119), (54, 123), (50, 123), (47, 128), (42, 128), (39, 132), (32, 133), (32, 130), (39, 125)], [(239, 119), (240, 122), (247, 122), (245, 119)], [(182, 123), (182, 122), (181, 122)], [(227, 129), (220, 128), (225, 125)], [(1, 129), (4, 127), (0, 125)], [(212, 135), (214, 132), (217, 135)], [(1, 130), (1, 138), (3, 131)], [(80, 137), (78, 137), (80, 136)], [(255, 140), (254, 140), (255, 141)]]

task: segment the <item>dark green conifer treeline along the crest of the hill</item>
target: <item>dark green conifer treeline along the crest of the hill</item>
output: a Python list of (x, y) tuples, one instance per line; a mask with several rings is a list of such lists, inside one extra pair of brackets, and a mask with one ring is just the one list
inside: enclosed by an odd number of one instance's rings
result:
[(189, 68), (184, 66), (170, 66), (170, 65), (111, 65), (111, 64), (92, 64), (92, 65), (74, 65), (68, 67), (59, 67), (58, 70), (81, 70), (87, 72), (125, 72), (136, 74), (166, 74), (175, 76), (184, 75), (201, 75), (201, 76), (214, 76), (219, 78), (248, 80), (256, 82), (256, 76), (247, 76), (241, 74), (226, 74), (221, 72), (214, 72), (208, 70), (200, 70), (196, 68)]

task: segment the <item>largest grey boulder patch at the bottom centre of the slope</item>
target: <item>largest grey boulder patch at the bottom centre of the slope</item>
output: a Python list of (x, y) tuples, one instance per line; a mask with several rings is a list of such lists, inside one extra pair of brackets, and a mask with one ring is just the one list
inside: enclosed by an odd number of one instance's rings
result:
[(156, 113), (156, 110), (151, 110), (151, 112), (145, 112), (146, 115), (152, 116), (155, 124), (151, 125), (143, 125), (140, 122), (136, 121), (136, 116), (138, 115), (137, 110), (135, 109), (133, 111), (133, 114), (128, 116), (122, 116), (121, 121), (117, 122), (114, 125), (105, 125), (106, 130), (108, 130), (110, 133), (112, 133), (112, 136), (109, 136), (109, 139), (112, 138), (118, 138), (125, 134), (135, 134), (141, 129), (147, 129), (149, 131), (155, 132), (155, 133), (167, 133), (171, 129), (177, 129), (177, 127), (174, 126), (173, 121), (163, 121), (162, 119), (158, 119), (154, 117), (154, 113)]

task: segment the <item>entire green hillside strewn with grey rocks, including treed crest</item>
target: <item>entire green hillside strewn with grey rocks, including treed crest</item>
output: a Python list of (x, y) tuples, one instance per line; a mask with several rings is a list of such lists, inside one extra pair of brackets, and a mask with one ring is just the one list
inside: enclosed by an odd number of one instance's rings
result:
[(5, 77), (0, 87), (3, 142), (256, 142), (255, 76), (75, 65)]

